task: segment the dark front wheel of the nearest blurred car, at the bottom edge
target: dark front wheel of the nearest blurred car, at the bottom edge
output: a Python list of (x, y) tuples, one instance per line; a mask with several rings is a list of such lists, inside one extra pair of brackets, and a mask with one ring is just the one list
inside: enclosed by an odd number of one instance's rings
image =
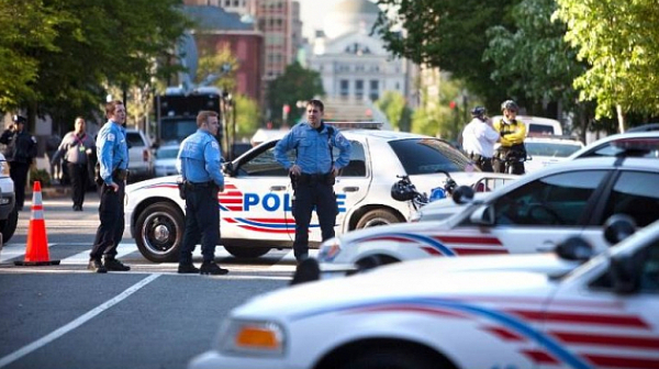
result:
[[(436, 369), (443, 368), (417, 350), (370, 349), (349, 359), (340, 369)], [(450, 368), (450, 366), (444, 367)]]

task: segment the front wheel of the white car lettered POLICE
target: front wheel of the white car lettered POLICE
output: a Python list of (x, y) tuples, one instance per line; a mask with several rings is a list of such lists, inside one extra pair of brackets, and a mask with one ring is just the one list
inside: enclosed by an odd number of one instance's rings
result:
[(176, 205), (155, 203), (137, 217), (135, 243), (149, 261), (177, 261), (185, 227), (183, 214)]

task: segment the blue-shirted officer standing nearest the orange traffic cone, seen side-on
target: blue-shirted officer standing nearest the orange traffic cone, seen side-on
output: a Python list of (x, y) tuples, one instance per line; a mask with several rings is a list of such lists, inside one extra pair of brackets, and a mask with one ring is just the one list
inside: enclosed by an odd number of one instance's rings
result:
[[(127, 271), (131, 267), (116, 259), (116, 246), (124, 231), (124, 194), (129, 174), (129, 146), (122, 127), (126, 118), (123, 102), (114, 100), (105, 104), (105, 116), (108, 122), (99, 131), (96, 143), (100, 166), (101, 224), (89, 254), (87, 269), (94, 272)], [(101, 262), (101, 257), (104, 262)]]

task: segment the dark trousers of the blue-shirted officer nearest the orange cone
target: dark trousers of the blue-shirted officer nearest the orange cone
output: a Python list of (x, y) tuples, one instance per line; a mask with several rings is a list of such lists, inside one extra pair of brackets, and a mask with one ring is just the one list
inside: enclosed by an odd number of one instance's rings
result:
[(124, 195), (126, 183), (123, 180), (114, 181), (119, 190), (102, 183), (100, 188), (101, 204), (99, 205), (99, 220), (101, 224), (97, 231), (93, 247), (89, 254), (90, 259), (100, 260), (102, 256), (112, 259), (116, 256), (116, 246), (124, 232)]

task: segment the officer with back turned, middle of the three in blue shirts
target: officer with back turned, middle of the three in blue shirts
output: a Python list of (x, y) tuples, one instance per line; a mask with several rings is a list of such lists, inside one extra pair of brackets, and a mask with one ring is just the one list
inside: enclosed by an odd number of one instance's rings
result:
[[(226, 275), (215, 264), (215, 246), (220, 243), (220, 208), (217, 193), (224, 191), (220, 165), (222, 153), (215, 139), (220, 123), (214, 111), (200, 111), (197, 132), (183, 139), (177, 167), (183, 177), (186, 232), (179, 258), (179, 273)], [(201, 268), (192, 264), (192, 251), (201, 241)]]

